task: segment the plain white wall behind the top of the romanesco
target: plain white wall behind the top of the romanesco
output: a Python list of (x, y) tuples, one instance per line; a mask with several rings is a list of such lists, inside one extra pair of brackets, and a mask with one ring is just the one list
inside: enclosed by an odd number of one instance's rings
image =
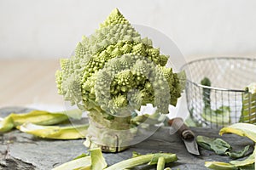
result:
[(0, 0), (0, 59), (66, 57), (113, 8), (165, 33), (186, 59), (256, 56), (254, 0)]

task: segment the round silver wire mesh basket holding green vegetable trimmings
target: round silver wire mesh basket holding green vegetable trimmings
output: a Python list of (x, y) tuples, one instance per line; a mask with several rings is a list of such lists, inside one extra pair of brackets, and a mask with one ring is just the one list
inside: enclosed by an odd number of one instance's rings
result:
[[(256, 82), (256, 59), (198, 59), (183, 65), (182, 70), (187, 75), (188, 110), (197, 126), (218, 128), (236, 122), (256, 123), (256, 94), (245, 90)], [(211, 81), (210, 87), (201, 85), (204, 77)]]

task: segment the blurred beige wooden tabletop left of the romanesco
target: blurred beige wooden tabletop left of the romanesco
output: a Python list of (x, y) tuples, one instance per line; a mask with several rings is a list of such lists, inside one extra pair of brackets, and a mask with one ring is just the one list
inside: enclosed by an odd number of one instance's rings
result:
[(55, 85), (59, 68), (59, 59), (0, 59), (0, 107), (63, 105)]

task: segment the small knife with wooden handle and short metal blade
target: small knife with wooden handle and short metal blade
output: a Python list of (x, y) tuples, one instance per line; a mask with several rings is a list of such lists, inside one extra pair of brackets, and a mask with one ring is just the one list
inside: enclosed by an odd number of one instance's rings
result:
[(177, 133), (180, 135), (181, 139), (186, 146), (186, 149), (190, 154), (199, 156), (198, 145), (195, 140), (195, 134), (187, 127), (181, 117), (176, 117), (168, 121), (169, 126), (177, 130)]

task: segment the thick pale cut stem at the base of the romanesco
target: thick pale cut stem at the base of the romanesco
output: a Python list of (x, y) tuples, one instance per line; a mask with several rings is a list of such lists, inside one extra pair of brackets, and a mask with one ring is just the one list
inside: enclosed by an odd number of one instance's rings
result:
[(106, 152), (125, 150), (137, 128), (131, 127), (131, 116), (112, 116), (105, 111), (91, 110), (89, 128), (84, 145), (90, 149), (101, 148)]

